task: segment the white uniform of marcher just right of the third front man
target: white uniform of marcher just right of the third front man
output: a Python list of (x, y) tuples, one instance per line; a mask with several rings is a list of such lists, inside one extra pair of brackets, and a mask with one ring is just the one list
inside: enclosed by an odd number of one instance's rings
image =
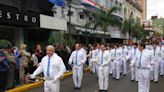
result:
[(121, 49), (112, 49), (111, 56), (113, 60), (113, 78), (120, 79), (120, 62), (122, 58)]

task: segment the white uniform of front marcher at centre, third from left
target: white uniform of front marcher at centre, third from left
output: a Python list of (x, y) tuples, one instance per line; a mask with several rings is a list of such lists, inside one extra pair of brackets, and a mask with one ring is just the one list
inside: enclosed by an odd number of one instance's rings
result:
[(108, 79), (109, 79), (109, 62), (111, 56), (109, 55), (108, 51), (100, 51), (98, 54), (98, 82), (100, 90), (107, 90), (108, 89)]

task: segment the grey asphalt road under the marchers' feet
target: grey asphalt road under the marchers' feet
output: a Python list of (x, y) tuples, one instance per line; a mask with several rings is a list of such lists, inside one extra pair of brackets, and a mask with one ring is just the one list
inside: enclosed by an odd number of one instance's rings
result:
[[(98, 82), (95, 74), (86, 73), (83, 77), (82, 89), (73, 89), (72, 78), (61, 81), (60, 92), (98, 92)], [(164, 92), (164, 77), (160, 77), (158, 83), (151, 83), (150, 92)], [(43, 92), (43, 87), (28, 90), (27, 92)], [(110, 77), (108, 92), (137, 92), (137, 83), (130, 81), (130, 75), (121, 76), (120, 80)]]

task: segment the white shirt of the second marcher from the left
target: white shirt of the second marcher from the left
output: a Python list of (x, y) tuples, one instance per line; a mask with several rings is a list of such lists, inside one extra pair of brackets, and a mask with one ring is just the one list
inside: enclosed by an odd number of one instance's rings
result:
[(69, 58), (69, 64), (74, 66), (80, 66), (85, 64), (86, 62), (86, 54), (81, 50), (75, 50), (72, 52)]

